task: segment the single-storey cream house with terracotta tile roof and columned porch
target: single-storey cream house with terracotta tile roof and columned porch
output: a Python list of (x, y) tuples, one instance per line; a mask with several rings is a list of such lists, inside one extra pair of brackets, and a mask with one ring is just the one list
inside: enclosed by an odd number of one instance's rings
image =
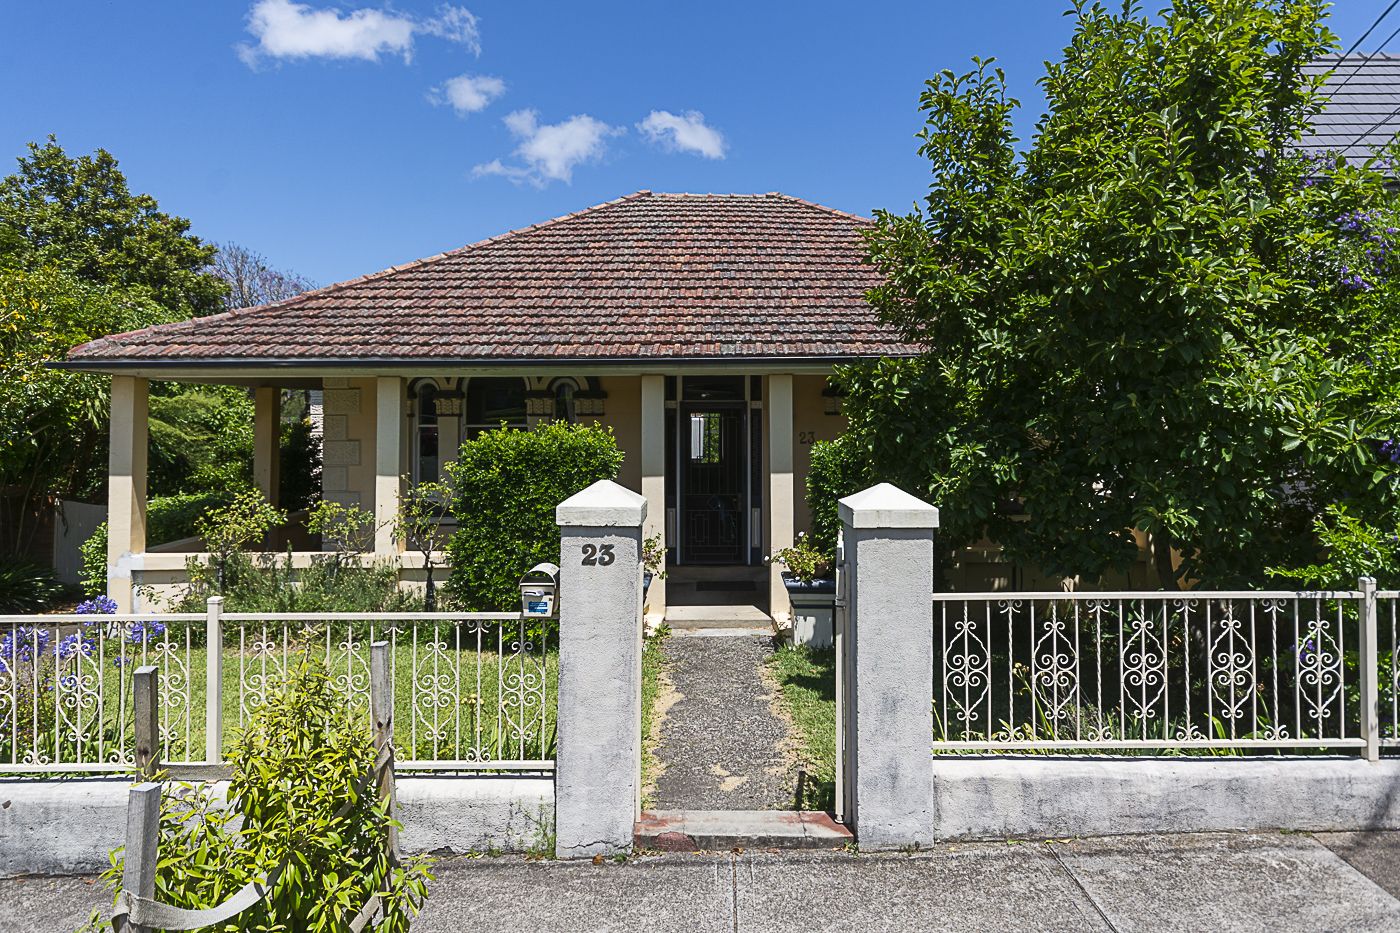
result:
[[(78, 346), (60, 366), (112, 377), (109, 593), (125, 609), (183, 580), (189, 544), (148, 549), (144, 532), (147, 384), (172, 380), (253, 389), (255, 476), (273, 499), (280, 389), (321, 389), (323, 496), (381, 523), (403, 476), (438, 478), (480, 430), (610, 426), (619, 482), (647, 496), (645, 534), (669, 549), (672, 600), (749, 588), (783, 616), (763, 559), (806, 527), (811, 445), (844, 426), (827, 375), (913, 353), (865, 303), (869, 224), (778, 193), (641, 191), (276, 304)], [(414, 570), (386, 524), (374, 553)]]

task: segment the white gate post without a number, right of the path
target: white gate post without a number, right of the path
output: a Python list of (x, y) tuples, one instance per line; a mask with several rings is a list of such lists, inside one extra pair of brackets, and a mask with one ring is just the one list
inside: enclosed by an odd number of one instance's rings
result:
[(846, 548), (846, 818), (861, 849), (934, 842), (934, 530), (889, 483), (837, 503)]

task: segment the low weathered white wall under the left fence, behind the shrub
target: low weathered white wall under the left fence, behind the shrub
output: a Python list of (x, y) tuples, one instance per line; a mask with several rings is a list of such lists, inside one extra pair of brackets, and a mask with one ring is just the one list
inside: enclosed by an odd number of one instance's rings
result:
[[(0, 780), (0, 877), (94, 873), (126, 834), (125, 779)], [(553, 852), (552, 778), (400, 778), (405, 852)]]

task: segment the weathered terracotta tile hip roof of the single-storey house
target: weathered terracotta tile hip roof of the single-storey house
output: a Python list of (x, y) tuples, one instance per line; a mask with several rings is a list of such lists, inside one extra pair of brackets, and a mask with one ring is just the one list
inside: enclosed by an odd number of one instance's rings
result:
[(910, 352), (864, 294), (869, 219), (785, 195), (619, 200), (258, 308), (119, 333), (69, 360), (605, 361)]

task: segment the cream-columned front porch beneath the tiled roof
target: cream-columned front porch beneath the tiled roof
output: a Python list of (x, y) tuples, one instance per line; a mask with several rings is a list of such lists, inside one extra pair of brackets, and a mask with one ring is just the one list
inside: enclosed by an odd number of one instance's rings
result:
[[(392, 534), (407, 483), (437, 481), (465, 438), (505, 423), (563, 419), (609, 427), (624, 452), (617, 482), (648, 500), (647, 538), (666, 548), (666, 577), (648, 590), (647, 618), (783, 621), (781, 576), (764, 562), (808, 524), (802, 490), (811, 444), (844, 419), (826, 389), (829, 367), (798, 373), (301, 374), (185, 371), (176, 381), (248, 387), (255, 398), (253, 476), (279, 496), (277, 437), (284, 388), (318, 389), (322, 499), (374, 514), (364, 563), (392, 562), (400, 581), (423, 579), (423, 556)], [(108, 593), (120, 611), (154, 608), (188, 581), (197, 538), (147, 546), (148, 380), (112, 377)], [(167, 378), (169, 378), (167, 377)], [(305, 569), (321, 542), (295, 520), (266, 556)]]

